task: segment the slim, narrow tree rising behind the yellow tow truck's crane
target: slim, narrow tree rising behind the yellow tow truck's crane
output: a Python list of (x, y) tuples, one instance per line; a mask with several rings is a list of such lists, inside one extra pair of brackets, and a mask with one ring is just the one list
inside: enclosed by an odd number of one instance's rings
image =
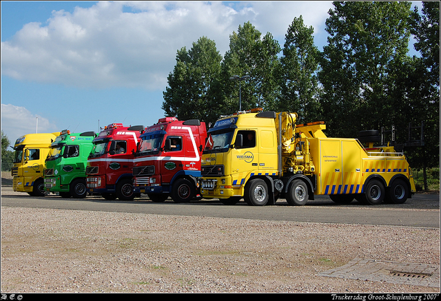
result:
[(303, 24), (302, 16), (294, 18), (285, 35), (280, 58), (281, 96), (277, 110), (297, 112), (299, 122), (315, 121), (319, 114), (319, 51), (314, 45), (314, 28)]

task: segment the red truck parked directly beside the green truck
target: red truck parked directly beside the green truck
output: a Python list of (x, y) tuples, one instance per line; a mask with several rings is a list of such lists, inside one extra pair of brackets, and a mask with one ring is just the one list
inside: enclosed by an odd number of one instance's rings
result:
[(133, 159), (143, 132), (143, 125), (124, 127), (122, 123), (112, 123), (94, 138), (86, 167), (90, 192), (99, 193), (106, 200), (134, 199)]

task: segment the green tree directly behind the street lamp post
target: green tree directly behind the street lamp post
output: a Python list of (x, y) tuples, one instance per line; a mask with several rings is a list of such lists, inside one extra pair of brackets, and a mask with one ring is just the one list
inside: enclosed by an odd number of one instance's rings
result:
[(276, 72), (280, 68), (278, 53), (280, 45), (270, 33), (261, 34), (248, 21), (229, 36), (229, 50), (222, 63), (223, 93), (226, 111), (230, 114), (239, 109), (239, 83), (229, 78), (249, 75), (248, 81), (240, 83), (242, 110), (254, 107), (267, 108), (274, 104), (280, 93)]

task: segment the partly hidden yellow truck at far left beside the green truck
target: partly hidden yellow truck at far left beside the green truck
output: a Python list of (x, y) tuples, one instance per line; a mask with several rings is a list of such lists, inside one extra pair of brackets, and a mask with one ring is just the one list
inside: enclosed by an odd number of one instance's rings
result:
[(27, 134), (14, 144), (12, 166), (12, 188), (14, 191), (28, 192), (31, 196), (44, 196), (43, 169), (50, 144), (59, 135), (56, 133)]

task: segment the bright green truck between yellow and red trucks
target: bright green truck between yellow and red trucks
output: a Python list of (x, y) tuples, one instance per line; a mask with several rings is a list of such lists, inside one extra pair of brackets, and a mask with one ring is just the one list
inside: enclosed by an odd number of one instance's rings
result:
[(92, 150), (95, 132), (71, 134), (65, 129), (50, 145), (45, 160), (44, 184), (48, 192), (59, 192), (63, 198), (85, 198), (88, 191), (85, 167)]

